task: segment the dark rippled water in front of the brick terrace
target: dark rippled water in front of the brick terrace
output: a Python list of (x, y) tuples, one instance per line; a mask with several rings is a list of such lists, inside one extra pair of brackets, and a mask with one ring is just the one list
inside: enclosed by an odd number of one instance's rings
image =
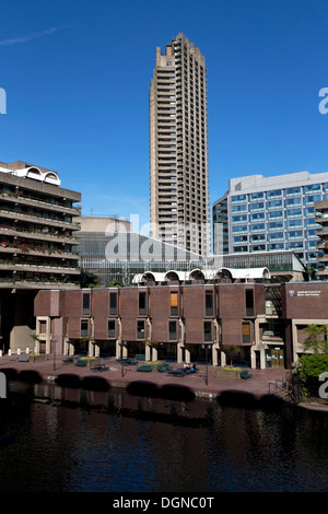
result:
[(0, 492), (327, 491), (328, 413), (236, 398), (12, 382)]

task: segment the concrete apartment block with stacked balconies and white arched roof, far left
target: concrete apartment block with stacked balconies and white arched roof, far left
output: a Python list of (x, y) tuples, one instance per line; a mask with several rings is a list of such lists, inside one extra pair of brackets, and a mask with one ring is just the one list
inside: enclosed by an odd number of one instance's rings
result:
[(79, 201), (52, 171), (0, 163), (0, 289), (80, 287)]

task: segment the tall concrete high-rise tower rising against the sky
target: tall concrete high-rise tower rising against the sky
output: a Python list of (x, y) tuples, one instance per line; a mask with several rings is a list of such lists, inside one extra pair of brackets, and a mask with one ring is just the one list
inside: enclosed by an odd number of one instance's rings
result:
[(206, 59), (184, 34), (156, 48), (150, 86), (151, 235), (210, 252)]

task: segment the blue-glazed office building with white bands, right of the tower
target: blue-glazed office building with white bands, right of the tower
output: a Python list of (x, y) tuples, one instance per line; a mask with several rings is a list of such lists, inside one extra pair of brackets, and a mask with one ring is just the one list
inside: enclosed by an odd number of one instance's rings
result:
[[(227, 227), (223, 231), (224, 253), (292, 250), (306, 267), (317, 268), (320, 225), (315, 202), (327, 198), (328, 173), (233, 178), (229, 191), (213, 203), (213, 234), (216, 223)], [(214, 237), (214, 255), (220, 246), (222, 242)]]

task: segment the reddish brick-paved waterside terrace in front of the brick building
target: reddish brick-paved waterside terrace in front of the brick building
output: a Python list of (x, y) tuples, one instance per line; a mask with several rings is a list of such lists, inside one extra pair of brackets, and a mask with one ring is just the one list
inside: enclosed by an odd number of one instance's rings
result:
[[(63, 355), (47, 355), (47, 360), (35, 362), (19, 362), (17, 355), (3, 355), (0, 358), (0, 372), (10, 376), (20, 377), (20, 379), (37, 381), (57, 379), (62, 385), (70, 381), (83, 383), (89, 381), (94, 384), (107, 384), (109, 387), (125, 387), (138, 390), (138, 387), (163, 388), (176, 387), (176, 392), (190, 392), (196, 396), (203, 397), (224, 397), (224, 395), (235, 395), (239, 393), (244, 400), (272, 398), (281, 395), (279, 389), (274, 388), (276, 381), (283, 381), (290, 374), (282, 369), (250, 370), (253, 374), (248, 379), (219, 378), (215, 371), (219, 367), (198, 365), (198, 373), (184, 377), (169, 376), (166, 373), (152, 371), (137, 372), (136, 365), (121, 366), (115, 358), (106, 359), (104, 362), (109, 369), (107, 371), (92, 372), (90, 367), (79, 367), (74, 364), (63, 364)], [(173, 367), (180, 367), (180, 364), (174, 363)]]

